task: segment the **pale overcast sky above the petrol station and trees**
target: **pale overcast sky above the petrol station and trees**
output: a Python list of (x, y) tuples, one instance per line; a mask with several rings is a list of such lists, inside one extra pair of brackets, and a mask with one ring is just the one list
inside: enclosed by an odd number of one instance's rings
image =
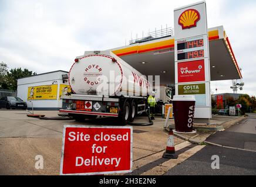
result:
[[(179, 1), (13, 1), (0, 0), (0, 61), (9, 68), (42, 72), (68, 71), (86, 50), (124, 46), (132, 37), (173, 27), (173, 9), (191, 4)], [(208, 27), (223, 25), (242, 68), (244, 90), (256, 95), (256, 1), (207, 2)], [(217, 93), (232, 92), (231, 81), (211, 82)]]

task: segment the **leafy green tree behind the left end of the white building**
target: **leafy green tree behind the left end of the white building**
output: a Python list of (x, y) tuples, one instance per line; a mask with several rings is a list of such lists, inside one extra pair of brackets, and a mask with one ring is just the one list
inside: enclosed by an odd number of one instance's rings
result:
[(7, 72), (6, 82), (8, 83), (8, 89), (16, 90), (17, 81), (19, 78), (29, 77), (36, 75), (36, 72), (29, 71), (28, 69), (14, 68)]

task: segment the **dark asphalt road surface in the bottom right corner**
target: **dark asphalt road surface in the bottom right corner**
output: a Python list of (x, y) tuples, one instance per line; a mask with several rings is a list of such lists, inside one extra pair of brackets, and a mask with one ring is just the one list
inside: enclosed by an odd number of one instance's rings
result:
[[(220, 169), (212, 169), (211, 157), (218, 155)], [(165, 175), (256, 175), (256, 153), (206, 146)]]

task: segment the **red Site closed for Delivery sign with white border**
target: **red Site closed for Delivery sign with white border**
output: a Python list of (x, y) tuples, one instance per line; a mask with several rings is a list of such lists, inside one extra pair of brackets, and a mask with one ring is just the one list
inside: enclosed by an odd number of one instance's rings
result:
[(64, 126), (60, 175), (132, 172), (132, 127)]

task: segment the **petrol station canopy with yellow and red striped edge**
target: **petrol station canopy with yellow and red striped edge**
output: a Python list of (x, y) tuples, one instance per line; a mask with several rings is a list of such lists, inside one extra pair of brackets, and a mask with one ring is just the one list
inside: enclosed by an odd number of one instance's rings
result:
[[(160, 75), (160, 84), (174, 83), (174, 37), (163, 37), (112, 49), (144, 75)], [(211, 81), (241, 79), (230, 40), (223, 26), (208, 29)]]

